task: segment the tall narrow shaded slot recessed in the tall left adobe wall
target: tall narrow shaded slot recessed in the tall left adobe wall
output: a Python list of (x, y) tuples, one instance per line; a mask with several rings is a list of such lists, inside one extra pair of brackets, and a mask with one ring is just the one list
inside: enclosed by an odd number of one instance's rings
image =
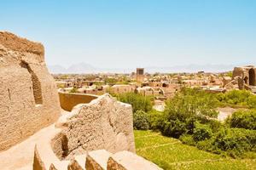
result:
[(25, 61), (21, 61), (20, 66), (25, 68), (31, 75), (33, 95), (36, 105), (43, 105), (41, 82), (39, 82), (38, 76)]

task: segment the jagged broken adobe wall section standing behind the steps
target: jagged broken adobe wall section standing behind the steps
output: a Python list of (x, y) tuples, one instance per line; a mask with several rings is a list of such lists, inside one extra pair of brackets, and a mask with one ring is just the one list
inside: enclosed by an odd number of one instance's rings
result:
[(131, 105), (104, 94), (89, 104), (75, 106), (71, 113), (61, 116), (55, 126), (62, 128), (61, 134), (65, 136), (62, 139), (66, 140), (61, 144), (65, 148), (62, 155), (72, 157), (88, 150), (135, 152), (132, 123)]

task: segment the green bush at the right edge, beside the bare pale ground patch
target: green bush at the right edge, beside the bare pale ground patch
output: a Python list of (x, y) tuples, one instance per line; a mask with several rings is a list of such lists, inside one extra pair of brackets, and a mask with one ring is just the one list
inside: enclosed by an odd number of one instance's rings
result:
[(236, 111), (226, 122), (230, 127), (256, 130), (256, 110)]

